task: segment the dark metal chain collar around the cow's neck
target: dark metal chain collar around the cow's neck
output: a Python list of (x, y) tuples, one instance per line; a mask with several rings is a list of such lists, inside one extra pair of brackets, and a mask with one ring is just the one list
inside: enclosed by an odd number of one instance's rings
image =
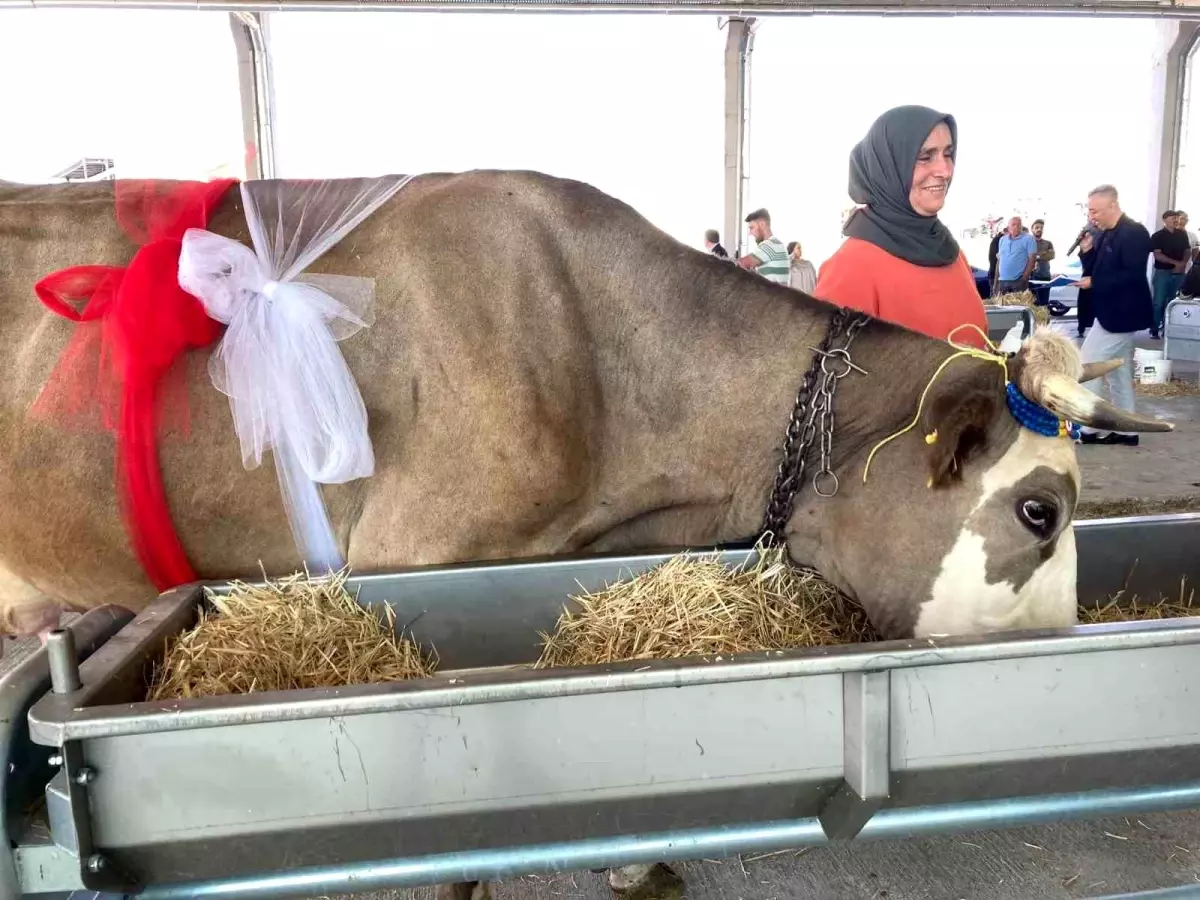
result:
[[(850, 346), (854, 341), (854, 335), (868, 320), (862, 313), (838, 310), (829, 320), (829, 328), (826, 329), (821, 344), (812, 348), (812, 362), (804, 373), (804, 380), (800, 382), (800, 389), (796, 395), (792, 419), (788, 421), (784, 436), (784, 458), (775, 473), (775, 485), (772, 488), (767, 514), (763, 517), (762, 533), (768, 544), (781, 545), (784, 542), (784, 529), (792, 517), (796, 494), (804, 481), (809, 451), (818, 434), (821, 438), (818, 443), (821, 468), (812, 476), (812, 490), (821, 497), (833, 497), (838, 493), (840, 486), (838, 475), (829, 467), (833, 452), (833, 395), (838, 382), (850, 374), (851, 370), (866, 374), (851, 361)], [(845, 340), (841, 347), (834, 348), (834, 341), (842, 332), (845, 332)], [(812, 390), (818, 374), (821, 382), (814, 400)]]

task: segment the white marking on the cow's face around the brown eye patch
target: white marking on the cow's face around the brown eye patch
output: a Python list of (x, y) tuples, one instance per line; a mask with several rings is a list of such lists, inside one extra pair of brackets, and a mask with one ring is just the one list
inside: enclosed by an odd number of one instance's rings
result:
[(922, 606), (913, 629), (917, 637), (1060, 628), (1078, 622), (1075, 532), (1070, 526), (1058, 536), (1054, 556), (1020, 590), (1010, 582), (988, 583), (984, 536), (971, 527), (972, 517), (996, 492), (1012, 487), (1039, 466), (1068, 475), (1079, 487), (1079, 463), (1072, 444), (1021, 428), (1008, 451), (984, 473), (979, 500), (942, 559), (931, 599)]

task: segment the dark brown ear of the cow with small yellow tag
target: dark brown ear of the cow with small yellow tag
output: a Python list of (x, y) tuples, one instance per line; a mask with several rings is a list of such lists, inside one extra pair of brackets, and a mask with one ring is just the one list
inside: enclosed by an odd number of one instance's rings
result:
[(1001, 402), (996, 376), (988, 374), (954, 379), (931, 397), (923, 416), (930, 487), (961, 481), (967, 461), (988, 446)]

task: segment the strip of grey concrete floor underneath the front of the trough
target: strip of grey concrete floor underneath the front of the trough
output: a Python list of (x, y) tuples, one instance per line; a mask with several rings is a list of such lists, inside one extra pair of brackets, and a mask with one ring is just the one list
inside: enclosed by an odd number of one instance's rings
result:
[[(1115, 835), (1115, 836), (1110, 836)], [(680, 863), (689, 900), (1067, 900), (1195, 884), (1200, 812), (816, 847), (767, 858)], [(360, 894), (432, 900), (420, 888)], [(612, 900), (602, 875), (529, 876), (497, 900)]]

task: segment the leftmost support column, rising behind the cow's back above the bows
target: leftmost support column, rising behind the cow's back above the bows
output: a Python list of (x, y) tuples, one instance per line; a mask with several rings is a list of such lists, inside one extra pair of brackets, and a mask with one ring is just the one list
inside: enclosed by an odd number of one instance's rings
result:
[(275, 80), (266, 13), (232, 12), (229, 28), (238, 53), (246, 178), (275, 178)]

